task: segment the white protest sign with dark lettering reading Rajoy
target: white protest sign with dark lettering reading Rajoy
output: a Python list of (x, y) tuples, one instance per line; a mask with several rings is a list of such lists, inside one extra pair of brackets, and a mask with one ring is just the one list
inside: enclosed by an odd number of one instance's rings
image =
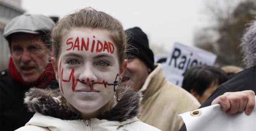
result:
[(164, 74), (168, 81), (182, 86), (183, 75), (187, 69), (195, 65), (213, 66), (216, 57), (206, 50), (175, 43), (170, 56), (163, 64)]

